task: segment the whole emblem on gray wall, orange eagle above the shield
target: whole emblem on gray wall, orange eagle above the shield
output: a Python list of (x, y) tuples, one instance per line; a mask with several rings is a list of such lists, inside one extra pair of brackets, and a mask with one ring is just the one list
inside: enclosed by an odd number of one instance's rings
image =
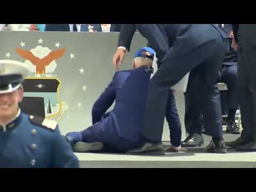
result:
[(23, 83), (25, 93), (20, 103), (21, 110), (29, 115), (58, 121), (68, 107), (66, 102), (60, 101), (61, 83), (53, 73), (57, 67), (55, 61), (62, 57), (66, 49), (50, 50), (48, 47), (36, 46), (29, 51), (19, 48), (15, 50), (26, 59), (25, 65), (28, 65), (31, 71), (30, 77)]

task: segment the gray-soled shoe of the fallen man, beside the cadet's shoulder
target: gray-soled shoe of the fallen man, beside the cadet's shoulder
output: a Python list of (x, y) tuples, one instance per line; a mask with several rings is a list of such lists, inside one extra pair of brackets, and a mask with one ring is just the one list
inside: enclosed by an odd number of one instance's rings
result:
[(73, 151), (75, 153), (100, 153), (103, 149), (102, 142), (77, 142), (74, 147)]

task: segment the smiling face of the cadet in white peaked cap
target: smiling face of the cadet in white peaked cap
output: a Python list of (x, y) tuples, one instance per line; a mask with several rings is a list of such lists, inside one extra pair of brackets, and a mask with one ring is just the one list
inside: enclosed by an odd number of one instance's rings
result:
[(23, 89), (0, 94), (0, 118), (13, 118), (17, 115), (18, 103), (22, 101)]

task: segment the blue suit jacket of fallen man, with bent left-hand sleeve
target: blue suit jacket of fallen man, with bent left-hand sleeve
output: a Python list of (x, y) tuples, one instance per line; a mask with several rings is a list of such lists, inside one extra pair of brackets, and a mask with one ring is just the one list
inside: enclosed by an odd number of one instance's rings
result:
[[(140, 141), (150, 80), (150, 72), (146, 69), (146, 67), (140, 67), (115, 73), (111, 83), (93, 105), (94, 129), (115, 133), (119, 138), (134, 143)], [(114, 109), (102, 119), (114, 101)]]

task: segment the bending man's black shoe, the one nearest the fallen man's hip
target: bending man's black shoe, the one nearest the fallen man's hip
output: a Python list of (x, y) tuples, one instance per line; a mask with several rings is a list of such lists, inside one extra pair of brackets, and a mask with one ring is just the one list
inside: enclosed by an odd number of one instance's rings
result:
[(128, 155), (164, 155), (165, 147), (162, 143), (143, 143), (135, 149), (126, 152)]

